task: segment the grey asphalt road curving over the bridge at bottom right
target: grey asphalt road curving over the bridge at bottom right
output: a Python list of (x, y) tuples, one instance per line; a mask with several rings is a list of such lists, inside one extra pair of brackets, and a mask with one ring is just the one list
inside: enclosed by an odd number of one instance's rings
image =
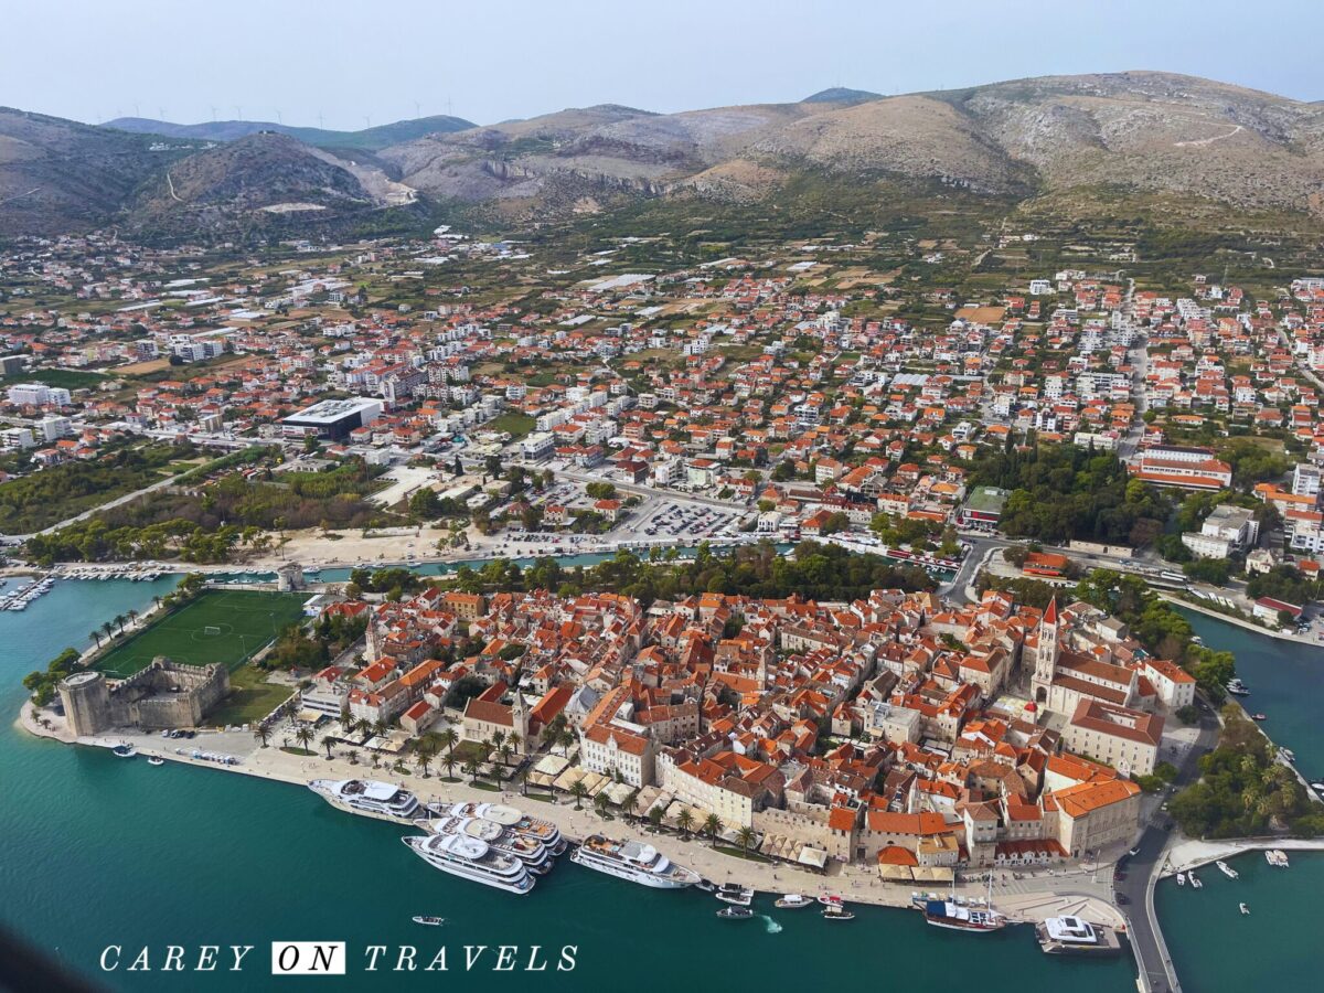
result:
[[(1197, 763), (1200, 756), (1210, 751), (1218, 740), (1218, 719), (1211, 710), (1200, 710), (1200, 736), (1178, 765), (1176, 784), (1184, 786), (1200, 777)], [(1158, 824), (1155, 824), (1157, 821)], [(1152, 822), (1140, 835), (1139, 851), (1127, 861), (1127, 878), (1117, 883), (1117, 892), (1128, 903), (1127, 932), (1131, 948), (1136, 955), (1144, 988), (1152, 993), (1180, 993), (1181, 984), (1172, 960), (1166, 956), (1166, 945), (1155, 914), (1153, 890), (1157, 882), (1157, 869), (1162, 865), (1172, 833), (1162, 830), (1168, 816), (1156, 810)]]

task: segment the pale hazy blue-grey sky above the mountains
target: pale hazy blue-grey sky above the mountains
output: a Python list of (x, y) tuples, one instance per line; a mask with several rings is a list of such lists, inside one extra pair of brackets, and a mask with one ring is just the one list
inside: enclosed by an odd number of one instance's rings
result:
[[(1320, 0), (8, 3), (0, 105), (78, 120), (478, 123), (1164, 69), (1324, 98)], [(214, 110), (213, 110), (214, 107)]]

